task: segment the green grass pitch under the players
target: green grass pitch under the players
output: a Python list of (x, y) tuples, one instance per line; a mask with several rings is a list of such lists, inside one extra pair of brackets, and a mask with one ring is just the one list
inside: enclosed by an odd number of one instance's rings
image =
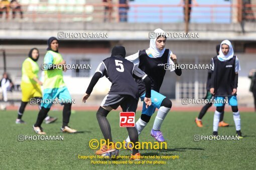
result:
[[(63, 135), (64, 140), (18, 141), (18, 135), (37, 135), (32, 130), (38, 111), (25, 111), (26, 124), (15, 124), (16, 111), (1, 111), (0, 169), (255, 169), (256, 167), (256, 113), (241, 112), (240, 140), (194, 141), (195, 134), (211, 135), (213, 112), (206, 113), (203, 128), (194, 122), (198, 112), (171, 111), (167, 115), (162, 132), (167, 140), (167, 149), (144, 149), (142, 155), (178, 155), (179, 159), (164, 160), (166, 164), (91, 164), (89, 159), (79, 159), (78, 155), (94, 155), (89, 148), (89, 140), (101, 139), (102, 134), (95, 116), (96, 111), (76, 111), (71, 114), (70, 126), (78, 129), (76, 134), (60, 132), (62, 112), (50, 111), (58, 120), (52, 124), (42, 124), (47, 135)], [(156, 114), (155, 114), (156, 115)], [(150, 135), (155, 115), (139, 136), (140, 141), (155, 140)], [(136, 120), (140, 113), (137, 113)], [(111, 111), (107, 116), (114, 141), (122, 142), (127, 137), (126, 128), (119, 127), (119, 113)], [(224, 120), (229, 127), (219, 127), (219, 135), (235, 135), (231, 112), (225, 112)], [(120, 155), (130, 155), (129, 150), (120, 149)], [(102, 160), (102, 159), (94, 159)], [(118, 159), (125, 161), (127, 159)], [(152, 160), (152, 159), (147, 159)], [(154, 161), (154, 160), (152, 160)]]

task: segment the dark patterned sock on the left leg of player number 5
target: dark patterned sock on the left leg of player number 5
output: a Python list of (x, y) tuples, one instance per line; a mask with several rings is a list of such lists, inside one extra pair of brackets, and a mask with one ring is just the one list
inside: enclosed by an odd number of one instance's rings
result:
[[(111, 128), (110, 128), (110, 124), (106, 118), (107, 114), (109, 113), (108, 110), (99, 107), (97, 113), (96, 113), (96, 117), (99, 123), (99, 127), (101, 129), (101, 132), (104, 136), (104, 139), (107, 142), (107, 139), (112, 142), (112, 135), (111, 135)], [(108, 144), (108, 143), (106, 143)]]

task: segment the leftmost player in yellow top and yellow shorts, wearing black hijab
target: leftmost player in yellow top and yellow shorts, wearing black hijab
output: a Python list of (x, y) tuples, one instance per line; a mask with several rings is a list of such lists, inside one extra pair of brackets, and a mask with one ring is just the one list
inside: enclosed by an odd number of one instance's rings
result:
[[(25, 59), (22, 64), (22, 102), (18, 111), (18, 117), (16, 119), (16, 123), (25, 123), (22, 120), (22, 115), (24, 113), (25, 107), (30, 101), (31, 98), (36, 98), (36, 100), (40, 100), (42, 98), (42, 91), (40, 85), (43, 83), (38, 79), (38, 71), (39, 66), (37, 60), (39, 58), (39, 50), (37, 48), (32, 48), (29, 51), (29, 57)], [(39, 109), (41, 109), (40, 102)], [(45, 118), (46, 123), (54, 122), (57, 118), (47, 116)]]

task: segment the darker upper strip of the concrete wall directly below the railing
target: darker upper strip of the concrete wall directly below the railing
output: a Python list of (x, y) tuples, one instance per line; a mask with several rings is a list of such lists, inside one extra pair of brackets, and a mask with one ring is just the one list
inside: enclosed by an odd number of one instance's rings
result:
[[(246, 22), (244, 25), (245, 31), (255, 31), (256, 23)], [(31, 22), (31, 21), (2, 21), (0, 30), (154, 30), (156, 28), (164, 30), (183, 31), (184, 23), (102, 23), (102, 22)], [(190, 31), (234, 31), (241, 32), (239, 23), (190, 23)]]

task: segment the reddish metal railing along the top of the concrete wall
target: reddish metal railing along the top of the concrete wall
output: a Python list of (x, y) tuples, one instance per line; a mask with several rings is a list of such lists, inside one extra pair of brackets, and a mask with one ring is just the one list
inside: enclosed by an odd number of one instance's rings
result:
[[(36, 21), (95, 21), (95, 22), (184, 22), (184, 4), (21, 4), (24, 20)], [(190, 4), (190, 22), (240, 22), (255, 20), (256, 4)], [(6, 19), (7, 11), (9, 18)], [(13, 11), (19, 17), (20, 9), (0, 9), (3, 20), (11, 20)], [(2, 13), (2, 14), (1, 14)], [(5, 15), (5, 16), (4, 16)], [(127, 19), (128, 18), (128, 19)]]

